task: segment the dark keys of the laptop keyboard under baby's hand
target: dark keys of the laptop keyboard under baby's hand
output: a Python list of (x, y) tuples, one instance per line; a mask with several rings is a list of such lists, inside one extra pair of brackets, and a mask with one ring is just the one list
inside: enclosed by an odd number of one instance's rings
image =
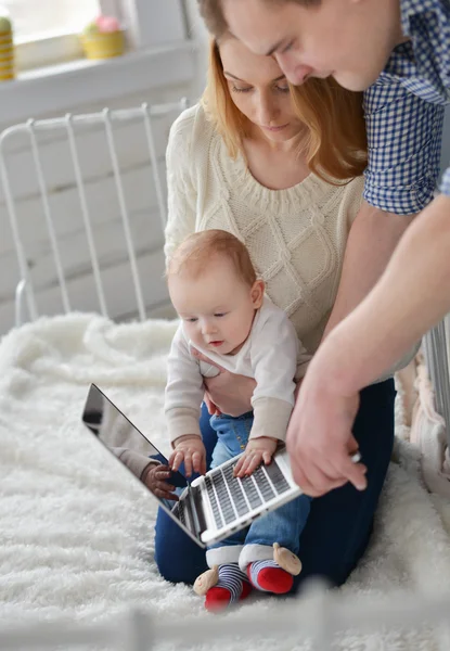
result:
[[(205, 477), (205, 484), (218, 527), (270, 501), (290, 489), (275, 461), (259, 465), (249, 476), (233, 476), (235, 463), (218, 468)], [(220, 503), (220, 507), (219, 507)], [(223, 520), (222, 520), (223, 516)]]

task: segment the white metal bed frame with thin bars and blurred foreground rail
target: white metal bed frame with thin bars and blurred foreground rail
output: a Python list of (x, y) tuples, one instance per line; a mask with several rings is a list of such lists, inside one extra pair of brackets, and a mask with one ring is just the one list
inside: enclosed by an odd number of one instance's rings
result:
[[(24, 322), (24, 304), (27, 305), (28, 318), (35, 320), (39, 316), (35, 290), (26, 261), (26, 252), (21, 238), (20, 226), (16, 215), (15, 199), (12, 191), (8, 168), (8, 152), (5, 144), (11, 137), (18, 132), (25, 132), (29, 137), (29, 146), (36, 168), (39, 193), (42, 202), (48, 235), (51, 243), (53, 259), (55, 263), (59, 286), (61, 290), (63, 309), (70, 311), (64, 267), (57, 238), (54, 229), (53, 216), (50, 209), (48, 189), (43, 173), (39, 143), (36, 138), (38, 131), (53, 130), (65, 133), (74, 166), (74, 176), (79, 196), (80, 213), (88, 239), (89, 252), (92, 263), (93, 280), (99, 299), (99, 310), (103, 316), (108, 316), (102, 278), (100, 272), (99, 257), (95, 250), (92, 222), (83, 187), (83, 177), (78, 155), (77, 137), (74, 125), (103, 125), (110, 158), (112, 163), (116, 199), (120, 209), (124, 226), (128, 260), (131, 268), (133, 289), (137, 299), (138, 316), (141, 320), (146, 318), (145, 306), (142, 296), (142, 286), (139, 278), (137, 259), (130, 233), (130, 216), (124, 194), (121, 170), (119, 167), (114, 128), (118, 123), (131, 119), (141, 119), (145, 141), (149, 150), (149, 162), (152, 167), (153, 180), (156, 189), (157, 205), (163, 228), (166, 225), (167, 206), (159, 177), (157, 156), (154, 139), (154, 119), (158, 116), (178, 113), (187, 106), (187, 100), (168, 104), (152, 105), (142, 104), (139, 107), (121, 111), (110, 111), (105, 108), (99, 113), (86, 115), (68, 114), (64, 117), (28, 120), (25, 124), (15, 125), (5, 129), (0, 135), (0, 179), (7, 205), (7, 212), (11, 224), (17, 261), (21, 272), (21, 281), (15, 292), (15, 323)], [(447, 357), (447, 333), (446, 324), (438, 326), (425, 337), (425, 352), (428, 360), (429, 371), (436, 387), (437, 408), (450, 423), (450, 381)], [(253, 614), (245, 622), (233, 622), (230, 626), (229, 620), (211, 618), (202, 622), (195, 617), (182, 622), (173, 621), (173, 617), (162, 620), (152, 618), (151, 613), (132, 609), (124, 613), (123, 617), (115, 616), (113, 620), (102, 624), (73, 625), (67, 626), (59, 622), (37, 623), (27, 628), (12, 627), (0, 629), (0, 649), (8, 651), (14, 649), (44, 649), (52, 644), (62, 644), (65, 649), (79, 648), (92, 643), (106, 646), (111, 649), (126, 649), (129, 651), (144, 651), (154, 648), (158, 641), (185, 642), (190, 644), (203, 643), (210, 639), (222, 636), (224, 643), (227, 637), (240, 635), (250, 638), (255, 630), (259, 635), (269, 637), (293, 634), (298, 637), (310, 637), (320, 651), (331, 649), (335, 634), (345, 629), (355, 629), (360, 633), (371, 633), (380, 629), (381, 622), (386, 627), (417, 626), (419, 623), (439, 624), (446, 622), (450, 612), (450, 593), (448, 596), (417, 596), (402, 593), (390, 596), (388, 600), (361, 599), (361, 597), (347, 597), (326, 591), (319, 586), (312, 593), (306, 593), (298, 601), (285, 604), (282, 613), (277, 612), (277, 617), (268, 616), (259, 618)], [(449, 639), (449, 638), (448, 638)], [(450, 648), (450, 641), (442, 646)]]

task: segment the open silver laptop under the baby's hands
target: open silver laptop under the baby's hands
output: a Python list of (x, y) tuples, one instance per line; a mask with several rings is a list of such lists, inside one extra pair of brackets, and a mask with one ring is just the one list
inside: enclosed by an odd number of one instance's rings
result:
[[(168, 465), (156, 446), (95, 384), (90, 386), (82, 421), (134, 476), (139, 475), (137, 468), (149, 464), (150, 460)], [(134, 464), (134, 472), (130, 470), (131, 456), (140, 461)], [(240, 456), (192, 482), (181, 472), (172, 472), (167, 483), (176, 487), (173, 499), (160, 498), (147, 484), (144, 485), (168, 515), (205, 548), (301, 495), (292, 477), (284, 447), (275, 452), (269, 465), (261, 464), (244, 478), (233, 476)]]

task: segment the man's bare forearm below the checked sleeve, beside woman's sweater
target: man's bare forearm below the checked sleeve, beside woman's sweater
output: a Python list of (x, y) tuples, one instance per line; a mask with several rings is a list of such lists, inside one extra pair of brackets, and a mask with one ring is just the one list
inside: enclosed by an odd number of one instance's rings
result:
[(339, 289), (323, 339), (374, 286), (413, 217), (362, 203), (348, 235)]

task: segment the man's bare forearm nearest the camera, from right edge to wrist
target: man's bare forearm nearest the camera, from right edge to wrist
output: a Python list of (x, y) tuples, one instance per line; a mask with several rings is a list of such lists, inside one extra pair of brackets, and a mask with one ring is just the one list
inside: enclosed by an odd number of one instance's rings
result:
[(408, 229), (369, 296), (324, 342), (320, 366), (338, 394), (353, 394), (449, 309), (450, 196), (441, 194)]

